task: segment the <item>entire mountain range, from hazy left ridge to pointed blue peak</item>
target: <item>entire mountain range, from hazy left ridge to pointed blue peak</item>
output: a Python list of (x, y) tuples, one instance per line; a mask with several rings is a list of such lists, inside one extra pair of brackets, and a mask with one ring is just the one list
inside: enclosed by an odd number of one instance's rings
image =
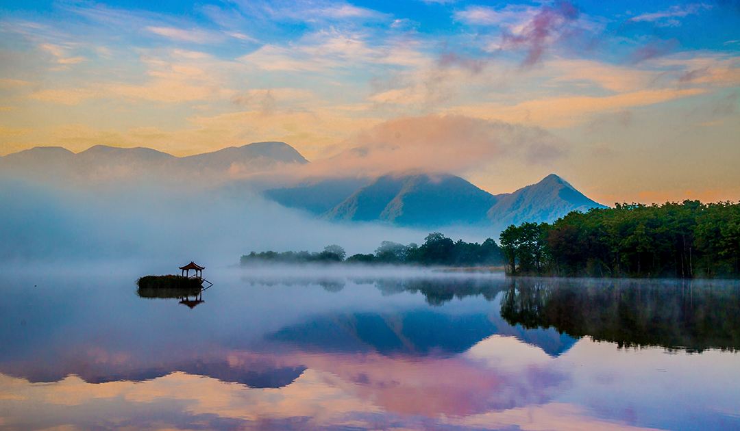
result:
[[(0, 157), (3, 174), (31, 175), (51, 182), (119, 182), (129, 178), (178, 183), (220, 179), (238, 188), (249, 187), (249, 184), (234, 182), (242, 174), (270, 172), (278, 164), (301, 166), (308, 163), (309, 160), (295, 148), (278, 141), (228, 146), (183, 157), (141, 146), (104, 145), (91, 146), (78, 153), (59, 146), (39, 146)], [(604, 207), (556, 174), (503, 194), (491, 194), (453, 174), (420, 172), (377, 177), (318, 177), (295, 186), (269, 187), (268, 181), (262, 191), (268, 200), (308, 211), (325, 220), (417, 228), (453, 225), (503, 228), (525, 221), (552, 222), (571, 211)], [(234, 197), (238, 199), (236, 196), (238, 194)]]

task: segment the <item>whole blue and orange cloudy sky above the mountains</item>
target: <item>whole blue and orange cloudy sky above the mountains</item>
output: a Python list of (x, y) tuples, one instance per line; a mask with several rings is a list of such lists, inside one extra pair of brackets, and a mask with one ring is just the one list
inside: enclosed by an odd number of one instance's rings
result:
[(493, 193), (737, 201), (740, 1), (0, 1), (0, 155), (260, 140)]

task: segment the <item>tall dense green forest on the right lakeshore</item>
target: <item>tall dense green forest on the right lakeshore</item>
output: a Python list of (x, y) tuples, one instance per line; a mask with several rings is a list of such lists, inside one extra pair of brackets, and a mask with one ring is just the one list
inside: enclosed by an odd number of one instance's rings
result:
[(499, 237), (513, 275), (679, 278), (740, 276), (740, 204), (617, 204)]

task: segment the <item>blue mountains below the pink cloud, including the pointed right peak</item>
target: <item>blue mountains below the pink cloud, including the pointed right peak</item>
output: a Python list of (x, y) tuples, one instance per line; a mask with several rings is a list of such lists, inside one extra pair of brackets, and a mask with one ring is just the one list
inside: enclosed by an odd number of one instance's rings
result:
[(454, 175), (383, 175), (375, 180), (331, 179), (264, 195), (329, 220), (383, 222), (427, 228), (479, 225), (505, 228), (551, 222), (571, 211), (603, 206), (555, 174), (506, 194), (490, 194)]

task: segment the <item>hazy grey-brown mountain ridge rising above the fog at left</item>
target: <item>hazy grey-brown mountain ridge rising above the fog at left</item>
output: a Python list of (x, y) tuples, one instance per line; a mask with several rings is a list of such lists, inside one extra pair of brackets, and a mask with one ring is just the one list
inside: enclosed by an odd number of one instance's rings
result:
[(229, 179), (265, 172), (278, 164), (309, 163), (283, 142), (230, 146), (200, 155), (175, 157), (154, 149), (96, 145), (77, 154), (61, 147), (36, 147), (0, 157), (3, 173), (35, 180), (119, 180), (141, 177)]

